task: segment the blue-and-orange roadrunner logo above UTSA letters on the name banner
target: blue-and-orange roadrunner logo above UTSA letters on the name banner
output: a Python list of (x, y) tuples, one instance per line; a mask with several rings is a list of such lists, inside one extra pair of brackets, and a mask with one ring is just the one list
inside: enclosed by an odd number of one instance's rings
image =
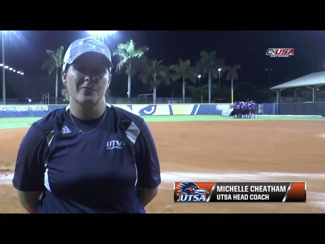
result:
[(180, 189), (180, 193), (177, 194), (179, 196), (178, 202), (206, 202), (207, 198), (205, 193), (209, 193), (206, 189), (199, 188), (193, 182), (180, 183), (176, 187)]

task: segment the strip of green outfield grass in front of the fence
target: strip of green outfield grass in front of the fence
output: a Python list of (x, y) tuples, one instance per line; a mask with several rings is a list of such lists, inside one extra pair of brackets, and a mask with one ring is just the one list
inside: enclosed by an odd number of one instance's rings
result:
[[(295, 116), (278, 116), (278, 117), (257, 117), (256, 119), (234, 119), (221, 115), (159, 115), (143, 116), (147, 122), (166, 122), (166, 121), (256, 121), (256, 120), (323, 120), (325, 117), (295, 117)], [(40, 117), (25, 118), (0, 118), (0, 129), (13, 129), (29, 127)]]

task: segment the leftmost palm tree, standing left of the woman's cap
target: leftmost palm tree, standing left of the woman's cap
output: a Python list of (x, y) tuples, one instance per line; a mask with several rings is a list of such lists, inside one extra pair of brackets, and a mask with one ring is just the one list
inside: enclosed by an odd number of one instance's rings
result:
[(51, 75), (55, 69), (55, 104), (57, 104), (58, 94), (58, 72), (59, 69), (62, 69), (63, 65), (63, 50), (63, 46), (60, 46), (56, 52), (52, 50), (46, 50), (46, 53), (49, 57), (42, 66), (42, 70), (47, 69), (49, 75)]

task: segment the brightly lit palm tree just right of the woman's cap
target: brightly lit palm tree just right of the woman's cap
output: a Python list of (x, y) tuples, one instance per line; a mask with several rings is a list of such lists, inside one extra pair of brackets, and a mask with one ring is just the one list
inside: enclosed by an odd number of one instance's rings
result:
[(136, 72), (136, 66), (139, 59), (144, 55), (146, 51), (149, 50), (148, 47), (141, 47), (136, 49), (136, 44), (133, 40), (126, 43), (121, 43), (117, 45), (117, 49), (113, 53), (114, 56), (118, 56), (118, 64), (116, 66), (116, 72), (120, 72), (124, 67), (126, 67), (125, 73), (127, 74), (127, 98), (131, 97), (131, 77), (133, 77)]

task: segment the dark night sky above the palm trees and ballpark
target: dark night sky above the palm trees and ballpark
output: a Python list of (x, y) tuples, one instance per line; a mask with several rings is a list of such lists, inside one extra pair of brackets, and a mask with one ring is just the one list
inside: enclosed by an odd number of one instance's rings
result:
[[(6, 37), (6, 63), (25, 74), (46, 74), (41, 71), (47, 57), (46, 49), (56, 50), (60, 45), (66, 50), (69, 44), (89, 36), (86, 31), (19, 31)], [(179, 58), (190, 59), (194, 66), (200, 52), (216, 51), (226, 65), (241, 65), (239, 81), (247, 81), (259, 88), (268, 87), (266, 67), (272, 67), (272, 86), (312, 72), (325, 70), (324, 31), (118, 31), (106, 39), (111, 52), (117, 44), (133, 39), (137, 47), (148, 46), (149, 58), (163, 60), (163, 64), (178, 64)], [(288, 58), (270, 58), (268, 48), (295, 48)], [(117, 58), (113, 57), (116, 67)], [(116, 96), (126, 94), (127, 76), (113, 73), (112, 90)], [(226, 82), (224, 77), (221, 83)], [(207, 83), (207, 78), (201, 78)], [(133, 78), (132, 95), (148, 93), (149, 89)], [(179, 90), (180, 94), (181, 90)], [(157, 96), (170, 95), (170, 88), (161, 85)]]

